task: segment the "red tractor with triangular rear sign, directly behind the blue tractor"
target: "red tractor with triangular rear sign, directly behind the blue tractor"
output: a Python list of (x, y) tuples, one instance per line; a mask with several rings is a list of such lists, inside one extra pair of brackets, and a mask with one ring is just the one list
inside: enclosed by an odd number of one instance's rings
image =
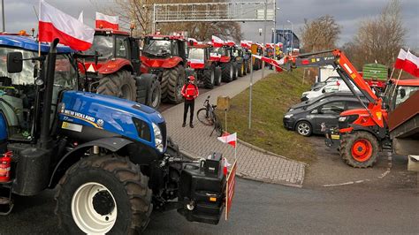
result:
[(85, 54), (79, 63), (86, 77), (84, 90), (159, 107), (161, 88), (156, 75), (141, 74), (139, 39), (127, 32), (96, 28), (93, 45)]

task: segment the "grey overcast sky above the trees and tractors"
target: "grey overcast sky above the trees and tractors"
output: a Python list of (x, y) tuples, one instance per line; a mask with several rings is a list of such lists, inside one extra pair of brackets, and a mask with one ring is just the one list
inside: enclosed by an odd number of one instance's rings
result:
[[(84, 11), (85, 22), (93, 27), (95, 11), (99, 11), (98, 5), (111, 4), (112, 0), (47, 0), (58, 9), (78, 17), (80, 11)], [(170, 1), (168, 1), (170, 2)], [(210, 2), (210, 1), (209, 1)], [(37, 19), (34, 7), (38, 8), (38, 0), (4, 0), (6, 31), (18, 32), (20, 29), (37, 27)], [(99, 3), (99, 4), (98, 4)], [(300, 34), (300, 28), (304, 19), (316, 19), (325, 14), (332, 15), (342, 26), (339, 45), (350, 41), (359, 27), (362, 19), (377, 17), (388, 0), (277, 0), (277, 28), (291, 28)], [(419, 49), (419, 0), (401, 0), (401, 12), (404, 26), (408, 28), (406, 45), (413, 49)], [(263, 23), (243, 24), (242, 31), (245, 38), (255, 42), (263, 42), (263, 36), (259, 36), (258, 28)], [(267, 32), (271, 32), (272, 23), (267, 24)], [(267, 42), (270, 41), (267, 36)]]

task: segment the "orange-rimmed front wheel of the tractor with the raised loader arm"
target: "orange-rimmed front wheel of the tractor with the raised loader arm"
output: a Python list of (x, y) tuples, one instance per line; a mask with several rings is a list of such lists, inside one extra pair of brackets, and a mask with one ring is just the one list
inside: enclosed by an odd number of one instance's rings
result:
[(378, 140), (371, 133), (354, 132), (346, 134), (340, 142), (339, 154), (348, 165), (367, 168), (377, 163)]

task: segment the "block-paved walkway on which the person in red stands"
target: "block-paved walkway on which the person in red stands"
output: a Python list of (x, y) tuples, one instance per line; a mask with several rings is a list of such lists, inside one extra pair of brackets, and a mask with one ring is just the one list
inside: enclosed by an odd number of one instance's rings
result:
[[(261, 79), (261, 73), (261, 71), (254, 72), (254, 82)], [(265, 70), (265, 73), (270, 73), (270, 71)], [(206, 157), (212, 152), (220, 152), (223, 153), (229, 163), (234, 162), (234, 149), (232, 146), (217, 140), (215, 132), (209, 137), (212, 127), (202, 125), (196, 119), (196, 111), (203, 107), (203, 102), (208, 95), (211, 95), (210, 102), (215, 104), (218, 95), (228, 95), (230, 97), (238, 95), (248, 87), (249, 80), (250, 75), (247, 75), (200, 95), (195, 100), (193, 129), (189, 125), (182, 127), (183, 103), (169, 110), (164, 110), (162, 114), (167, 123), (168, 133), (172, 140), (179, 144), (180, 151), (193, 158)], [(188, 122), (189, 115), (187, 124)], [(278, 122), (278, 125), (282, 124)], [(240, 135), (238, 138), (240, 139)], [(237, 174), (240, 177), (287, 186), (302, 186), (304, 163), (277, 155), (265, 154), (240, 143), (237, 145), (237, 160)]]

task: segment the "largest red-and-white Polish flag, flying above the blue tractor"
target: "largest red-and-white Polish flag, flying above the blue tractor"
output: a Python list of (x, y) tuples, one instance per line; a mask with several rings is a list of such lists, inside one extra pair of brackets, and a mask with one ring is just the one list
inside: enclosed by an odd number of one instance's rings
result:
[(75, 50), (87, 50), (92, 46), (95, 29), (86, 26), (79, 19), (59, 11), (43, 0), (39, 2), (39, 42), (59, 43)]

